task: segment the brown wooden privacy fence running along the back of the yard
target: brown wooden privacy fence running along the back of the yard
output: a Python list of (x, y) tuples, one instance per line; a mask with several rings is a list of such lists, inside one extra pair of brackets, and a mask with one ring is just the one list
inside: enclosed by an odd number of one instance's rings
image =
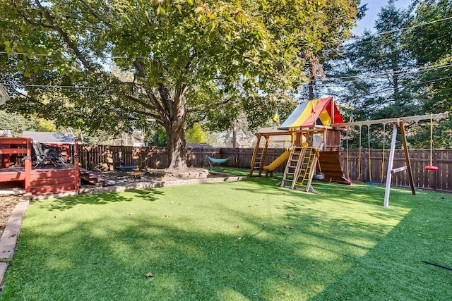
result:
[[(225, 167), (249, 168), (252, 148), (192, 148), (187, 149), (186, 160), (189, 167), (208, 167), (207, 156), (215, 158), (230, 158), (221, 164)], [(73, 154), (73, 149), (71, 149)], [(167, 168), (169, 165), (168, 154), (163, 147), (125, 147), (106, 145), (79, 145), (80, 163), (90, 170), (114, 171), (115, 166), (138, 166), (145, 168)], [(284, 149), (268, 149), (265, 165), (270, 164)], [(452, 192), (452, 149), (435, 149), (432, 163), (438, 166), (438, 171), (426, 171), (425, 166), (430, 165), (429, 149), (410, 149), (411, 167), (415, 187), (443, 192)], [(389, 150), (385, 150), (383, 173), (382, 149), (370, 150), (370, 162), (368, 149), (349, 149), (348, 156), (344, 150), (341, 152), (342, 164), (345, 176), (352, 181), (361, 181), (374, 185), (383, 185), (386, 180)], [(348, 158), (348, 159), (347, 159)], [(398, 149), (394, 155), (393, 168), (405, 165), (405, 154)], [(369, 168), (370, 166), (370, 168)], [(276, 171), (283, 172), (285, 164), (279, 166)], [(369, 173), (370, 171), (370, 173)], [(383, 179), (383, 181), (382, 181)], [(392, 185), (409, 187), (410, 183), (406, 171), (394, 173)]]

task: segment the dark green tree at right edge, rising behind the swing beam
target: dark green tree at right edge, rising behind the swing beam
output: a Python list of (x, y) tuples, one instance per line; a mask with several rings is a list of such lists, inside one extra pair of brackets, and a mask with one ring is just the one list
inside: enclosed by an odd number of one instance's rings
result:
[[(416, 57), (417, 97), (427, 113), (452, 111), (452, 1), (417, 1), (415, 18), (409, 31), (408, 46)], [(429, 147), (429, 128), (417, 147)], [(434, 127), (435, 147), (451, 148), (452, 121), (441, 121)]]

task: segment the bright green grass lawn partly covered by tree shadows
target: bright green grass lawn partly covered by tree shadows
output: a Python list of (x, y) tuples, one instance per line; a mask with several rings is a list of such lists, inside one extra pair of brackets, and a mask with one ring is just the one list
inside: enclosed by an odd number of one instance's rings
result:
[(278, 180), (33, 202), (0, 298), (452, 299), (452, 195)]

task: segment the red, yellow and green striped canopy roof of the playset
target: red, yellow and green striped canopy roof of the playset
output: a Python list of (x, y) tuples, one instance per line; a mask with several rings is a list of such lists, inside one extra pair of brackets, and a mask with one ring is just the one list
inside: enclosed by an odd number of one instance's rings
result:
[(313, 128), (314, 125), (330, 126), (343, 122), (333, 97), (326, 97), (302, 102), (278, 129), (295, 130)]

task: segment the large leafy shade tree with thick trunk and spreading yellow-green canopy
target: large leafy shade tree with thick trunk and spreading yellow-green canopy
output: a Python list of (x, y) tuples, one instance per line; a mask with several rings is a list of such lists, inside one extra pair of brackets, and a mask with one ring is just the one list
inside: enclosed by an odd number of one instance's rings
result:
[[(326, 22), (333, 6), (345, 12), (343, 26)], [(186, 121), (214, 116), (225, 119), (220, 126), (237, 111), (256, 120), (275, 105), (268, 95), (306, 80), (302, 54), (348, 32), (356, 7), (355, 0), (1, 1), (2, 82), (16, 96), (10, 109), (76, 128), (157, 123), (167, 133), (169, 168), (182, 169)]]

